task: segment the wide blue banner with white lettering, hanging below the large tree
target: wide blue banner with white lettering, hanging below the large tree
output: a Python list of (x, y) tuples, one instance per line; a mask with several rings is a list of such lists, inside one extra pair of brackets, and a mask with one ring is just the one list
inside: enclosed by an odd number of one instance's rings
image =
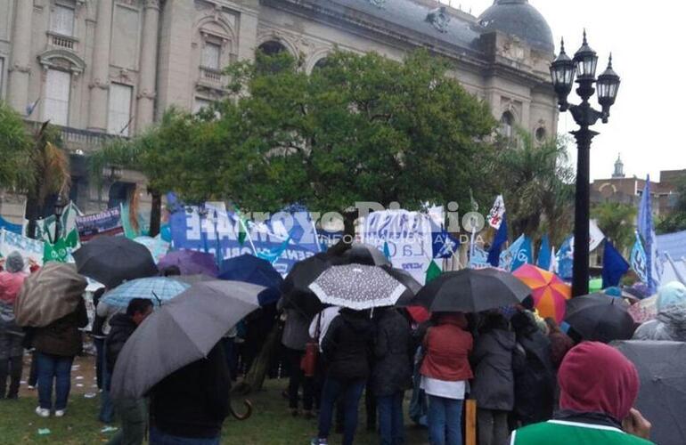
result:
[[(279, 212), (269, 221), (255, 222), (241, 221), (223, 203), (206, 203), (201, 212), (198, 206), (181, 205), (171, 194), (167, 195), (167, 203), (171, 209), (169, 230), (173, 247), (216, 255), (217, 263), (243, 254), (262, 256), (285, 275), (295, 263), (321, 248), (306, 211)], [(291, 236), (291, 232), (296, 236)]]

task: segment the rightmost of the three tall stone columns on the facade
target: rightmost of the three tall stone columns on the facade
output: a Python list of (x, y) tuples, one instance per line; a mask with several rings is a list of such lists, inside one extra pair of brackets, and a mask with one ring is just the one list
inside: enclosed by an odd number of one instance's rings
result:
[(146, 0), (143, 15), (143, 48), (141, 72), (138, 80), (135, 131), (141, 132), (151, 125), (155, 112), (155, 81), (157, 77), (157, 44), (159, 26), (159, 0)]

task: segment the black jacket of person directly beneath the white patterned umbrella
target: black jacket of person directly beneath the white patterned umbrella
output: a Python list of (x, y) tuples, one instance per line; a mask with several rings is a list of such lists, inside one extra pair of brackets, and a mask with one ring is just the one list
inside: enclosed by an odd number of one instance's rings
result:
[(373, 331), (367, 312), (341, 309), (322, 340), (327, 376), (344, 382), (369, 377)]

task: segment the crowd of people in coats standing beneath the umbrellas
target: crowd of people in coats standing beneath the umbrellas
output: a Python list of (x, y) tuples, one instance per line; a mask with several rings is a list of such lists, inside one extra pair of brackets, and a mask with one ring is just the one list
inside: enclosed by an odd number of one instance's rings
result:
[[(86, 306), (79, 303), (44, 328), (20, 328), (12, 311), (27, 277), (23, 270), (21, 256), (12, 254), (0, 272), (0, 399), (18, 397), (24, 349), (30, 348), (36, 414), (63, 417), (72, 363), (83, 349)], [(135, 298), (127, 308), (114, 308), (101, 295), (94, 295), (91, 334), (102, 386), (99, 418), (116, 418), (119, 425), (110, 444), (141, 444), (148, 431), (151, 444), (219, 443), (238, 374), (236, 327), (226, 327), (207, 358), (165, 377), (146, 397), (112, 398), (118, 354), (153, 302)], [(661, 288), (657, 308), (657, 318), (639, 327), (635, 338), (686, 341), (686, 287)], [(435, 312), (422, 322), (395, 307), (327, 307), (313, 317), (280, 302), (260, 311), (270, 314), (267, 324), (281, 322), (287, 409), (294, 417), (317, 417), (312, 445), (327, 444), (334, 428), (344, 445), (354, 443), (363, 395), (368, 427), (378, 426), (380, 443), (405, 443), (408, 391), (411, 417), (427, 426), (432, 445), (462, 443), (468, 399), (476, 401), (480, 445), (543, 444), (553, 437), (564, 438), (559, 443), (650, 443), (649, 421), (633, 408), (639, 379), (632, 362), (606, 344), (573, 339), (555, 320), (541, 320), (529, 309)], [(264, 338), (269, 329), (258, 330)]]

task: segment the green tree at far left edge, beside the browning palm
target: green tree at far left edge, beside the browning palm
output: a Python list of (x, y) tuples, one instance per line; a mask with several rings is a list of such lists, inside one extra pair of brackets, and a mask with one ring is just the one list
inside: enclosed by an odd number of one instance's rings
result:
[(29, 182), (26, 159), (31, 139), (19, 113), (0, 101), (0, 187), (15, 188)]

